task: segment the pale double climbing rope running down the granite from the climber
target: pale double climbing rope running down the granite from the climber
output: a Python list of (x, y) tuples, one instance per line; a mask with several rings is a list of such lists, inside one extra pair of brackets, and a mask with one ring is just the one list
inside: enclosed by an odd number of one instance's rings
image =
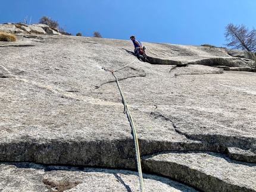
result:
[[(135, 62), (135, 61), (136, 61), (136, 59), (133, 62)], [(131, 62), (130, 64), (132, 64), (133, 62)], [(128, 65), (130, 65), (130, 64), (128, 64)], [(126, 115), (127, 115), (128, 119), (129, 119), (129, 122), (130, 122), (130, 125), (132, 127), (133, 139), (134, 139), (134, 142), (135, 142), (137, 168), (138, 168), (138, 172), (139, 172), (139, 184), (141, 186), (141, 192), (143, 192), (144, 191), (144, 186), (143, 186), (143, 177), (142, 177), (142, 169), (141, 169), (141, 156), (139, 155), (139, 143), (138, 143), (138, 137), (137, 137), (137, 134), (136, 134), (136, 128), (135, 128), (135, 125), (134, 125), (134, 122), (133, 122), (133, 119), (132, 119), (132, 115), (130, 114), (129, 108), (127, 106), (126, 100), (124, 98), (123, 92), (121, 90), (120, 84), (118, 82), (118, 78), (114, 73), (115, 71), (121, 70), (121, 69), (127, 67), (128, 65), (126, 65), (122, 68), (119, 68), (117, 70), (111, 71), (111, 73), (113, 74), (113, 76), (115, 77), (115, 81), (117, 82), (117, 87), (120, 91), (120, 94), (121, 94), (121, 97), (122, 97), (122, 100), (123, 100), (123, 104), (124, 104), (124, 110), (126, 112)]]

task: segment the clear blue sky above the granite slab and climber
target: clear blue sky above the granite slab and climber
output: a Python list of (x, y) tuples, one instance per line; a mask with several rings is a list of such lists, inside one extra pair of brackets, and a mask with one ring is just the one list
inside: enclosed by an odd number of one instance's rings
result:
[(224, 46), (229, 23), (256, 27), (255, 0), (0, 0), (0, 24), (51, 17), (66, 32), (180, 45)]

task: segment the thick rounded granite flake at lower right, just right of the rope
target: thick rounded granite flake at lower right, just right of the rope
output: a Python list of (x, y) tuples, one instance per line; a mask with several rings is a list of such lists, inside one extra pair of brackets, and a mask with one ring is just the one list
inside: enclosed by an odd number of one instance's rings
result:
[(202, 191), (256, 191), (256, 164), (236, 162), (216, 153), (171, 152), (146, 158), (143, 165), (146, 171)]

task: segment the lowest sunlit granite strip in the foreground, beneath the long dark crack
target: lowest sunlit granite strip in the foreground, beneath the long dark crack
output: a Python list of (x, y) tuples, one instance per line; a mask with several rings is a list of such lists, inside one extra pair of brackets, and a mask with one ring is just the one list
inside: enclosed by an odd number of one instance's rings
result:
[[(195, 189), (156, 175), (143, 175), (145, 191), (196, 192)], [(42, 166), (2, 163), (0, 191), (140, 191), (138, 173), (120, 169)]]

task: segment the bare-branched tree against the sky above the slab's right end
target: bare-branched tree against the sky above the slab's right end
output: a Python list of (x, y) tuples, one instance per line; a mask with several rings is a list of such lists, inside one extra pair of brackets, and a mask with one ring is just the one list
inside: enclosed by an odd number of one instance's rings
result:
[(243, 24), (234, 26), (230, 23), (226, 26), (226, 33), (224, 34), (227, 42), (229, 42), (226, 46), (231, 46), (233, 49), (256, 51), (256, 30), (254, 28), (249, 32)]

